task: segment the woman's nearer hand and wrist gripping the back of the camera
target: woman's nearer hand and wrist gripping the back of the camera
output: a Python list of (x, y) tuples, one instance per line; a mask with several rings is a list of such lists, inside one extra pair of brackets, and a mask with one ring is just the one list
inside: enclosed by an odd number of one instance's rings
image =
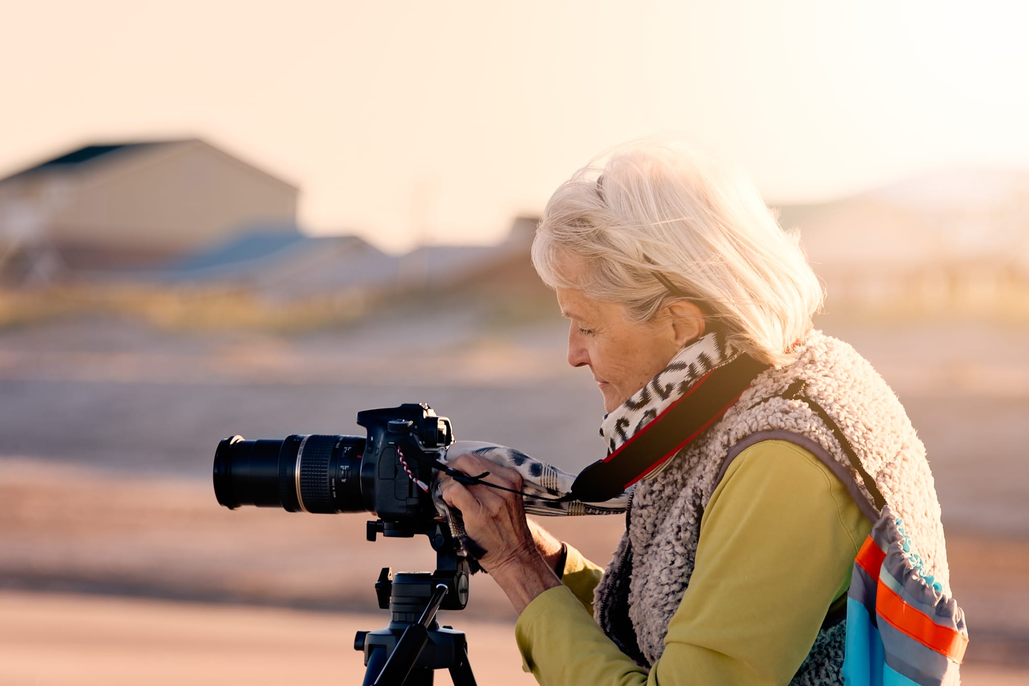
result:
[[(522, 489), (522, 475), (485, 457), (463, 454), (448, 465), (465, 474), (489, 472), (485, 481)], [(536, 549), (521, 495), (489, 486), (465, 486), (452, 477), (442, 477), (439, 494), (461, 511), (468, 538), (486, 551), (478, 558), (480, 564), (503, 588), (519, 613), (539, 593), (561, 585)]]

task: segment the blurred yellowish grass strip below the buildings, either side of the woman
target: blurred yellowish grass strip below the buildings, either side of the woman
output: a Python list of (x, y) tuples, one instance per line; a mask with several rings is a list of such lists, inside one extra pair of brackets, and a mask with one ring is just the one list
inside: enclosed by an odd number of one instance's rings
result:
[[(349, 325), (371, 313), (474, 310), (483, 324), (502, 332), (560, 316), (553, 291), (538, 284), (513, 288), (489, 283), (445, 288), (352, 290), (303, 299), (276, 299), (247, 288), (165, 286), (138, 283), (65, 283), (46, 287), (0, 287), (0, 330), (75, 316), (118, 316), (172, 332), (260, 331), (297, 333)], [(879, 323), (941, 322), (960, 318), (1029, 325), (1029, 293), (1006, 289), (989, 299), (951, 298), (878, 301), (832, 298), (824, 313)]]

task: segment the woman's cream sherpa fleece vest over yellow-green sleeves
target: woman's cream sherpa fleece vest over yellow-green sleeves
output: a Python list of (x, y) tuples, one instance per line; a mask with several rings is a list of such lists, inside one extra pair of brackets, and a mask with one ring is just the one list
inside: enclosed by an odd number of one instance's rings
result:
[[(795, 443), (824, 461), (874, 522), (873, 499), (833, 438), (805, 402), (784, 398), (803, 381), (851, 443), (893, 513), (902, 518), (927, 574), (950, 594), (950, 573), (932, 474), (925, 448), (882, 377), (848, 344), (812, 332), (797, 358), (754, 380), (699, 441), (636, 486), (627, 530), (596, 590), (604, 631), (644, 665), (664, 651), (665, 633), (689, 584), (701, 516), (728, 462), (758, 441)], [(794, 684), (842, 683), (844, 623), (822, 629)]]

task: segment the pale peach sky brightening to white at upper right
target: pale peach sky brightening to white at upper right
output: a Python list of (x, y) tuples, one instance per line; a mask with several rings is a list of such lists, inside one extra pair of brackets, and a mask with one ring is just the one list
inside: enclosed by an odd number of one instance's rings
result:
[(1029, 168), (1014, 0), (0, 0), (0, 176), (200, 137), (311, 233), (493, 242), (575, 169), (686, 139), (773, 204)]

